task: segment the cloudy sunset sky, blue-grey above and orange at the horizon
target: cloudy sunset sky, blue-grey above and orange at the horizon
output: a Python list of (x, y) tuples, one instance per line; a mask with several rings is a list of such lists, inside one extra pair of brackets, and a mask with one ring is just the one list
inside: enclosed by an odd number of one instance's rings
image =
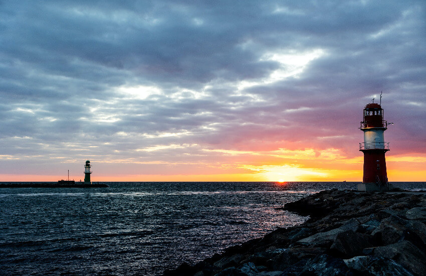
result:
[(0, 1), (0, 181), (426, 181), (424, 1)]

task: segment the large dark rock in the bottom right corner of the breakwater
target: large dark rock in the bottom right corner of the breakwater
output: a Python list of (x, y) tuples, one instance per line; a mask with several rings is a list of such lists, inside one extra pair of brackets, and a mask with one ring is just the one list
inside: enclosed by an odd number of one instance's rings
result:
[(426, 254), (409, 241), (403, 240), (377, 247), (374, 250), (374, 255), (392, 259), (414, 275), (426, 273)]

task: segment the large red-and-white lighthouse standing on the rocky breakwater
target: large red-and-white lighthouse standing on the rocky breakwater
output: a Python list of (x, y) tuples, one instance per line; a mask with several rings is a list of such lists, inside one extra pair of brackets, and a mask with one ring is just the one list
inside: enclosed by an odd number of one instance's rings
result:
[(378, 103), (367, 104), (363, 115), (360, 129), (364, 132), (364, 143), (359, 143), (359, 150), (364, 153), (364, 175), (362, 184), (358, 184), (358, 190), (389, 190), (384, 157), (389, 151), (389, 143), (384, 142), (383, 132), (391, 123), (383, 120), (383, 108)]

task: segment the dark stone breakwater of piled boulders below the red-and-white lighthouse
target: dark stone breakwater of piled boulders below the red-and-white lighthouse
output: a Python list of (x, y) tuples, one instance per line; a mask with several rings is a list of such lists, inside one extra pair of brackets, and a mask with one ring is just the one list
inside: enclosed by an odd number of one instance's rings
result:
[(288, 203), (303, 224), (164, 275), (426, 275), (426, 196), (328, 190)]

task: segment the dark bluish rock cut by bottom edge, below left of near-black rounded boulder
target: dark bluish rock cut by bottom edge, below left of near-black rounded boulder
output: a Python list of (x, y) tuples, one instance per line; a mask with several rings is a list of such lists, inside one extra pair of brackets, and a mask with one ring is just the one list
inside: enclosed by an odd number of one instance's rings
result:
[(308, 261), (304, 266), (302, 275), (353, 275), (342, 259), (334, 258), (327, 254), (319, 255)]

